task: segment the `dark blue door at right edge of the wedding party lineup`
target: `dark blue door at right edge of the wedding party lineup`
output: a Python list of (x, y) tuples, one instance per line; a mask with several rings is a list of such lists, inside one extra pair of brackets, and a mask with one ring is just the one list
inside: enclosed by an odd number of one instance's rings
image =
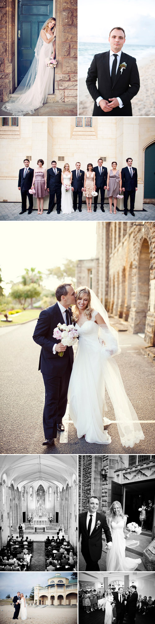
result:
[(145, 150), (144, 199), (155, 199), (155, 143)]

